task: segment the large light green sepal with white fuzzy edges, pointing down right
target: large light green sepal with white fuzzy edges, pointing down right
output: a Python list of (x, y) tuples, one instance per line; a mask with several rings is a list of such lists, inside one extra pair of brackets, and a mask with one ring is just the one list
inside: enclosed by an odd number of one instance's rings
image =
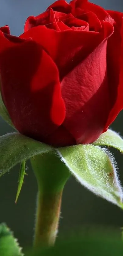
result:
[(123, 207), (116, 163), (106, 149), (94, 145), (59, 148), (58, 154), (78, 181), (90, 191)]

